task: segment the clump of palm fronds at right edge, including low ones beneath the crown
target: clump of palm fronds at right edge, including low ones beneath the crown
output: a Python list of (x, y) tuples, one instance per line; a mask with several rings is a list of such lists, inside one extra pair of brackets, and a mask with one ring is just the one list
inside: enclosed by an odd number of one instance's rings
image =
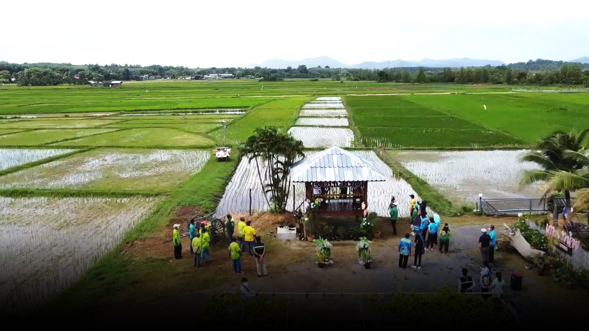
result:
[[(563, 192), (568, 210), (571, 210), (571, 192), (577, 194), (575, 210), (589, 207), (589, 145), (585, 138), (589, 128), (581, 132), (554, 131), (535, 146), (536, 151), (522, 157), (540, 166), (539, 170), (525, 170), (521, 186), (545, 183), (544, 198), (554, 191)], [(556, 208), (556, 206), (555, 206)]]

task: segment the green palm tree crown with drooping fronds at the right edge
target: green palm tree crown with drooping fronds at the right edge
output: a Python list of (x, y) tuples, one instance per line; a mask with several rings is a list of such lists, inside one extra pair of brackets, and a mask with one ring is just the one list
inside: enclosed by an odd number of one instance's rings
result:
[[(589, 133), (589, 128), (576, 132), (554, 131), (548, 137), (542, 138), (535, 147), (538, 151), (531, 151), (521, 160), (537, 163), (541, 170), (524, 170), (524, 176), (520, 186), (528, 186), (537, 182), (552, 181), (556, 174), (571, 173), (587, 167), (587, 160), (579, 157), (578, 153), (584, 153), (583, 141)], [(544, 194), (550, 194), (552, 190), (564, 191), (567, 208), (571, 208), (571, 188), (560, 185), (564, 181), (552, 181)], [(574, 190), (574, 189), (573, 189)]]

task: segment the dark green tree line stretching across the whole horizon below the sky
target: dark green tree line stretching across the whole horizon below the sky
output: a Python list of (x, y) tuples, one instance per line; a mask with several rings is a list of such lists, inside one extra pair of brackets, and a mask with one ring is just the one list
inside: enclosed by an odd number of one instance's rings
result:
[(589, 65), (538, 59), (498, 67), (468, 68), (386, 68), (349, 69), (326, 66), (307, 68), (197, 68), (161, 65), (72, 65), (11, 64), (0, 62), (0, 82), (19, 85), (88, 84), (102, 80), (143, 80), (145, 75), (162, 78), (195, 77), (209, 74), (233, 74), (236, 78), (278, 81), (286, 78), (329, 78), (336, 81), (378, 81), (456, 84), (533, 84), (589, 86)]

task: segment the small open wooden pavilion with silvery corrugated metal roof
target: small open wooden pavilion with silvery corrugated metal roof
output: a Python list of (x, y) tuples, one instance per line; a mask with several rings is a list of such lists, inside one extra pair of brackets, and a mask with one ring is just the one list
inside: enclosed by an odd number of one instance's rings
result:
[(293, 164), (290, 180), (305, 183), (310, 201), (321, 199), (319, 213), (360, 216), (368, 206), (368, 182), (386, 177), (370, 161), (333, 146)]

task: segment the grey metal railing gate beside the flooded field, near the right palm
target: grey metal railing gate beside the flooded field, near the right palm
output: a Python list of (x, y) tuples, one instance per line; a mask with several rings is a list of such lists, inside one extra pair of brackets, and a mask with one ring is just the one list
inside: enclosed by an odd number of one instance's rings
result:
[(548, 211), (544, 198), (479, 198), (478, 210), (488, 214), (542, 213)]

